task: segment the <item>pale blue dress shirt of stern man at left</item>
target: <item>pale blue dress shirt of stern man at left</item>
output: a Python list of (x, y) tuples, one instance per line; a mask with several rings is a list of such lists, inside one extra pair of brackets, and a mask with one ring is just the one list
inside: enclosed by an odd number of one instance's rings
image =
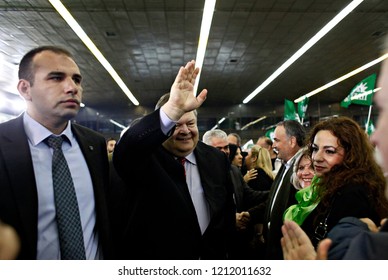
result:
[[(37, 259), (60, 259), (55, 202), (52, 181), (53, 150), (43, 141), (52, 133), (27, 113), (23, 116), (24, 129), (28, 137), (38, 194), (38, 246)], [(92, 179), (83, 153), (71, 131), (70, 121), (61, 135), (62, 150), (68, 163), (77, 195), (84, 234), (86, 259), (98, 259), (98, 236), (95, 231), (96, 214)]]

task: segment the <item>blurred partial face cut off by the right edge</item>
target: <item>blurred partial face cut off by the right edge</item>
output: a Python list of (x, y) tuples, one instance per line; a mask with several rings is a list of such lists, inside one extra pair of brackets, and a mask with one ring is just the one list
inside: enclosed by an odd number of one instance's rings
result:
[(379, 117), (376, 130), (371, 140), (378, 147), (382, 157), (382, 167), (385, 173), (388, 172), (388, 61), (384, 61), (377, 86), (381, 90), (375, 93), (375, 103), (379, 109)]

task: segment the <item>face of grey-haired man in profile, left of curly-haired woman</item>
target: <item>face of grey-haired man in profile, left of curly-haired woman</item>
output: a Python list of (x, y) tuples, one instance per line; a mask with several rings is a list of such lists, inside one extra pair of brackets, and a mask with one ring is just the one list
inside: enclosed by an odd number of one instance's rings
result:
[(273, 148), (278, 151), (278, 158), (288, 161), (295, 155), (295, 141), (287, 136), (284, 126), (278, 125), (275, 128), (273, 140)]

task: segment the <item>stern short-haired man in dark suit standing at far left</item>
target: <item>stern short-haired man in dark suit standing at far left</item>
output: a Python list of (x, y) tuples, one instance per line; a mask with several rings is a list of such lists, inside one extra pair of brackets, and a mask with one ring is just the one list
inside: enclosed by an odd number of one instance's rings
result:
[(18, 90), (26, 112), (0, 124), (0, 219), (20, 237), (19, 259), (61, 259), (52, 177), (51, 135), (64, 139), (78, 201), (86, 259), (111, 258), (105, 188), (109, 167), (104, 137), (72, 124), (82, 76), (58, 47), (31, 50), (20, 62)]

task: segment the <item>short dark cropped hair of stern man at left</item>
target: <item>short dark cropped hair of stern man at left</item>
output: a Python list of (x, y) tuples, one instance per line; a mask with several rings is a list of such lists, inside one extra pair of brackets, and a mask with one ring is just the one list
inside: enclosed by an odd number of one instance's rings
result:
[(35, 49), (30, 50), (28, 53), (26, 53), (19, 64), (19, 79), (24, 79), (30, 82), (31, 85), (33, 85), (34, 82), (34, 69), (32, 60), (34, 59), (35, 55), (38, 53), (41, 53), (43, 51), (51, 51), (57, 54), (64, 54), (70, 58), (73, 58), (73, 55), (66, 49), (56, 46), (41, 46)]

